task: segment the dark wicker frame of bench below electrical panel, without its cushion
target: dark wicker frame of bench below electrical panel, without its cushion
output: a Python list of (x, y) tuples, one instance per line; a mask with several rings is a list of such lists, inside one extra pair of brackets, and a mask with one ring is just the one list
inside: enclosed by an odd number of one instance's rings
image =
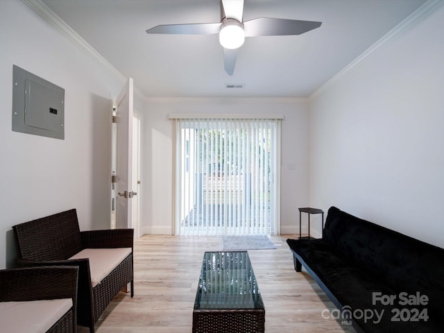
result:
[[(80, 232), (75, 209), (15, 225), (12, 229), (17, 239), (19, 266), (79, 266), (77, 323), (89, 327), (89, 332), (94, 333), (94, 324), (128, 283), (131, 297), (134, 296), (133, 229)], [(92, 287), (89, 259), (68, 259), (85, 248), (131, 248), (131, 253), (101, 283)]]

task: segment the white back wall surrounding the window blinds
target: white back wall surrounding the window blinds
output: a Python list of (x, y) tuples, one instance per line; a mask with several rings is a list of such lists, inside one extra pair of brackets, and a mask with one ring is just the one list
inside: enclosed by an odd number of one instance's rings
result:
[[(169, 113), (271, 113), (282, 121), (281, 232), (296, 232), (297, 207), (308, 203), (307, 103), (297, 99), (150, 99), (144, 114), (142, 228), (173, 233), (173, 121)], [(294, 164), (294, 169), (289, 169)]]

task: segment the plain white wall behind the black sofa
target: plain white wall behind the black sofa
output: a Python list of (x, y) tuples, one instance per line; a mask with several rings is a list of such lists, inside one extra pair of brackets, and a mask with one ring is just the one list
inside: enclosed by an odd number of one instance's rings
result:
[(444, 246), (444, 6), (310, 102), (310, 205)]

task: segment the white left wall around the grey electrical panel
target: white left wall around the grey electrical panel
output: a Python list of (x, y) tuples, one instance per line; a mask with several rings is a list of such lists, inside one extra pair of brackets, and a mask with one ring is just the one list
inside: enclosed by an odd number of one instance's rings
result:
[[(80, 230), (109, 228), (110, 98), (123, 86), (22, 1), (0, 1), (0, 268), (12, 225), (76, 208)], [(65, 140), (12, 132), (12, 65), (65, 88)]]

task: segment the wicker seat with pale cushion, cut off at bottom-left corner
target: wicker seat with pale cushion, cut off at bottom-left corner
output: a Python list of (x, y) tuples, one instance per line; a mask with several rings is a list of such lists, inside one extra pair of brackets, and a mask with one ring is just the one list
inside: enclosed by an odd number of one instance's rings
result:
[(1, 332), (77, 332), (78, 267), (0, 271)]

